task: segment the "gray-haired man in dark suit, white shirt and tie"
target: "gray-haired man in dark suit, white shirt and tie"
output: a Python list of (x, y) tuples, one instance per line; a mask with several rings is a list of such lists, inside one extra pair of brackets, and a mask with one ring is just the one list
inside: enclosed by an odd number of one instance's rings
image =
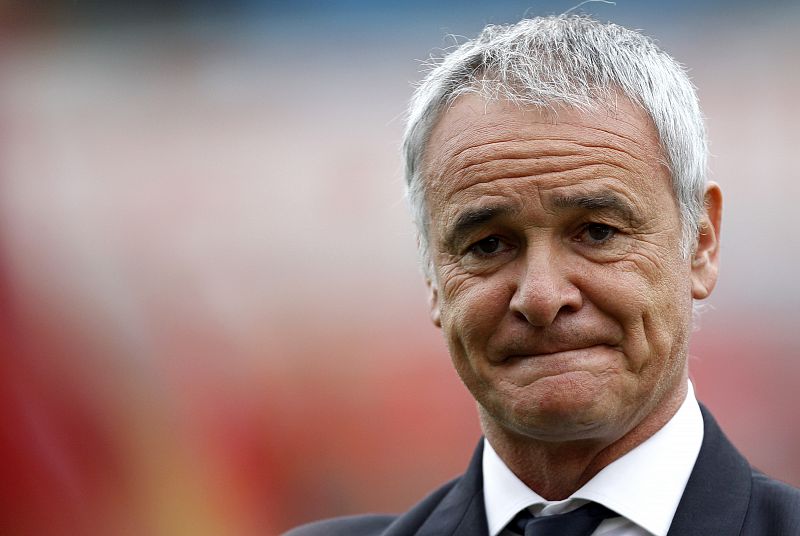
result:
[(800, 491), (688, 381), (722, 196), (671, 57), (583, 17), (489, 26), (417, 89), (404, 150), (431, 316), (485, 439), (403, 515), (292, 534), (800, 534)]

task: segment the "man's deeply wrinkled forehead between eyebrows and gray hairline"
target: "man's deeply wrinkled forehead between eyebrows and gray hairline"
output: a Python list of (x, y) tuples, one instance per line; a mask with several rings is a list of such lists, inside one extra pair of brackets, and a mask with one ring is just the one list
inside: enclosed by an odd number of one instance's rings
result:
[[(590, 112), (465, 95), (439, 120), (423, 162), (433, 219), (442, 203), (533, 187), (671, 192), (652, 121), (627, 98)], [(636, 202), (636, 199), (632, 199)]]

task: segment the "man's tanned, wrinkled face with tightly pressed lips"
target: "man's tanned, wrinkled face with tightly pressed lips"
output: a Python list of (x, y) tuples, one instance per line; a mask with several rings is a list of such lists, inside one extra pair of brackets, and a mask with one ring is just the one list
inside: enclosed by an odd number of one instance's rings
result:
[(622, 98), (554, 113), (469, 95), (439, 121), (424, 166), (432, 315), (484, 426), (615, 440), (682, 399), (716, 233), (683, 257), (661, 154)]

